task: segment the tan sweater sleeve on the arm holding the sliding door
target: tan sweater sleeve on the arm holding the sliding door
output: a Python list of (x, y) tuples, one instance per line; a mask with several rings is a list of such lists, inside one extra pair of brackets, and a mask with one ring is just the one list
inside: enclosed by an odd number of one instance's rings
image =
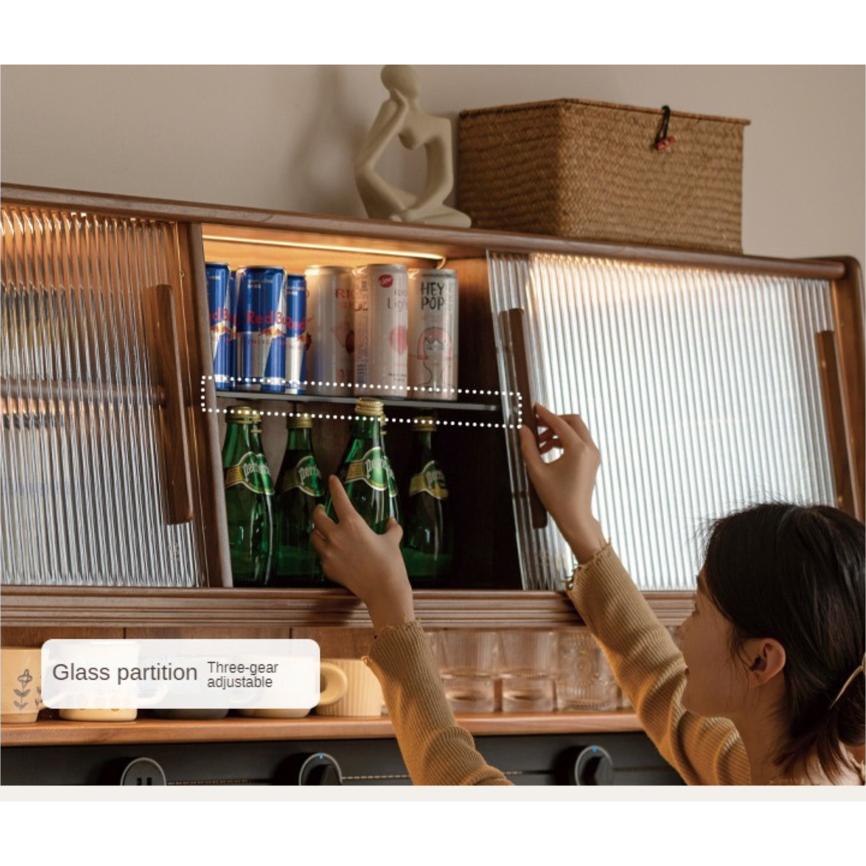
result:
[(733, 722), (682, 706), (685, 662), (610, 545), (574, 574), (572, 603), (662, 757), (688, 785), (748, 785), (746, 749)]

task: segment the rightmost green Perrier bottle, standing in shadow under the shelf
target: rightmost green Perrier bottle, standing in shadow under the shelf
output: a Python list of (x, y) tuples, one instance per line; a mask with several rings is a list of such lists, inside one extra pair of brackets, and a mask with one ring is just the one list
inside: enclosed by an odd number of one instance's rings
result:
[(454, 559), (454, 524), (445, 475), (433, 453), (436, 421), (429, 416), (412, 421), (415, 443), (410, 463), (403, 558), (410, 582), (418, 588), (442, 585)]

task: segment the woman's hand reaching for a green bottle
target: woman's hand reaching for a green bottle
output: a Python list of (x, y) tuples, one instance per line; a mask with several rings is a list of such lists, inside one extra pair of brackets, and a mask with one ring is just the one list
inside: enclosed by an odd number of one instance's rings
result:
[(412, 588), (400, 554), (403, 529), (391, 518), (384, 535), (374, 533), (355, 511), (336, 475), (328, 478), (328, 488), (339, 523), (318, 506), (310, 537), (322, 569), (367, 605), (377, 631), (411, 622), (415, 618)]

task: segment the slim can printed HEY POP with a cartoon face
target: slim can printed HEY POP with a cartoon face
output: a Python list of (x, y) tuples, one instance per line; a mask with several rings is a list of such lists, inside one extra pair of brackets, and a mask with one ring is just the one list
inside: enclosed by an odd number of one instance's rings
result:
[(457, 301), (455, 271), (410, 270), (409, 394), (414, 399), (457, 399)]

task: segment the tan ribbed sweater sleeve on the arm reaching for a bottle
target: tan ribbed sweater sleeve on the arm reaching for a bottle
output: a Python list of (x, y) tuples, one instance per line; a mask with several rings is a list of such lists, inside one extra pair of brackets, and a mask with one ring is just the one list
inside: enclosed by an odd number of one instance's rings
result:
[(415, 785), (509, 785), (451, 713), (430, 643), (416, 621), (385, 629), (365, 662), (382, 684), (391, 724)]

